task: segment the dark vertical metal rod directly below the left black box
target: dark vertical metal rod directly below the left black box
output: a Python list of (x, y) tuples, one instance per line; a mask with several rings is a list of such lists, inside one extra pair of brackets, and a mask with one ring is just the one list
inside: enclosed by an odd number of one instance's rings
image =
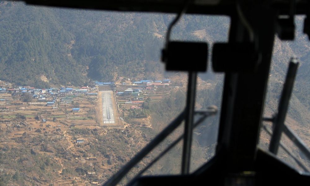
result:
[(187, 87), (187, 103), (186, 117), (184, 126), (184, 143), (182, 157), (182, 175), (189, 173), (191, 146), (193, 135), (193, 120), (195, 108), (197, 72), (188, 72), (188, 87)]

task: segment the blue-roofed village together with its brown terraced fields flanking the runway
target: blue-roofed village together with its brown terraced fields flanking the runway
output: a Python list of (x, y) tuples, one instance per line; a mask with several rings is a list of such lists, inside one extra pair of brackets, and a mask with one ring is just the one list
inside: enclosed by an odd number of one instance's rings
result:
[(182, 86), (182, 83), (171, 83), (169, 79), (131, 82), (130, 79), (123, 77), (118, 78), (116, 83), (93, 81), (91, 87), (49, 89), (13, 86), (11, 83), (2, 81), (0, 82), (0, 112), (4, 119), (14, 118), (14, 114), (24, 113), (26, 117), (34, 114), (33, 117), (37, 119), (39, 117), (40, 122), (55, 121), (57, 118), (66, 126), (103, 126), (100, 125), (102, 114), (98, 108), (101, 105), (96, 103), (100, 92), (113, 91), (112, 102), (115, 104), (115, 113), (118, 116), (126, 115), (128, 109), (142, 109), (144, 101), (148, 98), (152, 101), (161, 100), (169, 95), (172, 89), (178, 89), (179, 86)]

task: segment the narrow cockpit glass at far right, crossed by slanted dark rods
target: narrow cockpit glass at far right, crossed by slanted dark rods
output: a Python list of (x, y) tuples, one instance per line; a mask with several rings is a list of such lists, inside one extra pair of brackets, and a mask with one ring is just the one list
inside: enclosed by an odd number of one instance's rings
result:
[[(273, 47), (272, 64), (269, 72), (268, 92), (266, 94), (264, 117), (272, 118), (278, 110), (281, 92), (286, 79), (286, 73), (290, 58), (295, 56), (299, 60), (299, 68), (296, 74), (293, 92), (290, 97), (288, 112), (285, 119), (285, 125), (305, 144), (307, 148), (309, 143), (309, 52), (308, 36), (303, 33), (304, 16), (296, 16), (296, 32), (294, 41), (281, 41), (275, 39)], [(270, 145), (270, 135), (273, 126), (272, 122), (263, 122), (261, 129), (259, 146), (268, 149)], [(294, 168), (308, 172), (310, 170), (309, 159), (296, 144), (282, 133), (281, 145), (277, 157), (287, 162)], [(303, 167), (304, 166), (304, 167)]]

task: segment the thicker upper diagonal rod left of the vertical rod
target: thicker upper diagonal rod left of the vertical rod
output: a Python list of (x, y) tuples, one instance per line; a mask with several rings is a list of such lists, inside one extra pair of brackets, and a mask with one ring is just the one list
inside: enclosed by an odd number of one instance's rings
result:
[(114, 174), (104, 186), (116, 185), (127, 173), (134, 167), (143, 157), (153, 150), (159, 143), (162, 142), (172, 131), (174, 131), (184, 120), (185, 111), (173, 120), (161, 133), (159, 133), (147, 146), (145, 146), (139, 153), (135, 155), (125, 166), (122, 167), (116, 174)]

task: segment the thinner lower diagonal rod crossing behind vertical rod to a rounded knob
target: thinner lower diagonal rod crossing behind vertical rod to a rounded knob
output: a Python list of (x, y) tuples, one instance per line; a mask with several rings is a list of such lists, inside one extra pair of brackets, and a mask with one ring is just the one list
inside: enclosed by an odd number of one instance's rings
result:
[[(209, 112), (205, 112), (204, 115), (199, 118), (199, 120), (194, 124), (194, 128), (197, 127), (201, 122), (203, 122), (207, 117), (214, 115), (217, 113), (217, 110), (213, 110), (213, 111), (209, 111)], [(202, 112), (199, 112), (199, 114), (202, 114)], [(135, 177), (133, 179), (131, 179), (131, 182), (127, 185), (132, 185), (136, 179), (138, 179), (140, 177), (140, 175), (142, 175), (146, 170), (148, 170), (154, 163), (156, 163), (160, 158), (162, 158), (167, 152), (170, 151), (171, 148), (173, 148), (176, 144), (178, 144), (181, 139), (183, 139), (184, 134), (182, 134), (181, 136), (179, 136), (178, 139), (176, 139), (174, 142), (172, 142), (164, 151), (162, 151), (155, 159), (153, 159), (152, 162), (150, 162), (146, 167), (144, 167), (144, 169), (140, 170), (139, 173), (137, 175), (135, 175)]]

